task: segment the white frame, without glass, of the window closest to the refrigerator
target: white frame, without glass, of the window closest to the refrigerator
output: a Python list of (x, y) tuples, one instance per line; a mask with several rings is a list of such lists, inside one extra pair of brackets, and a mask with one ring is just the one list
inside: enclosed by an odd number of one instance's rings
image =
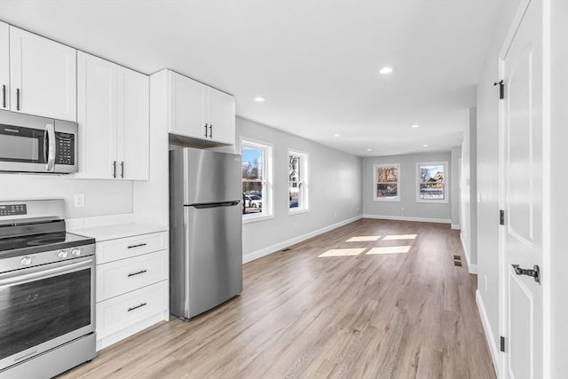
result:
[[(264, 141), (259, 141), (254, 138), (241, 137), (240, 138), (240, 148), (241, 148), (241, 170), (242, 170), (242, 147), (247, 146), (250, 148), (263, 149), (264, 150), (264, 162), (263, 162), (263, 178), (260, 180), (263, 185), (263, 210), (260, 213), (248, 213), (242, 214), (242, 223), (248, 224), (256, 221), (262, 221), (266, 219), (274, 218), (273, 212), (273, 183), (272, 183), (272, 171), (274, 162), (274, 146)], [(244, 183), (241, 171), (241, 193), (242, 193), (242, 183)], [(254, 182), (256, 180), (249, 180)], [(244, 204), (242, 204), (244, 207)]]

